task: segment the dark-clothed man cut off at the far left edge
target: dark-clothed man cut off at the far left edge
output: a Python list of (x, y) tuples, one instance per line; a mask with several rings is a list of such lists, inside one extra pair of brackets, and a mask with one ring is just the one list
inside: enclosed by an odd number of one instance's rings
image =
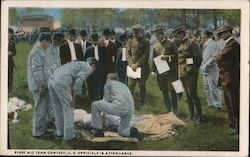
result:
[(13, 85), (13, 72), (15, 63), (13, 60), (13, 56), (16, 55), (16, 43), (14, 39), (14, 30), (9, 28), (8, 35), (8, 93), (12, 91)]

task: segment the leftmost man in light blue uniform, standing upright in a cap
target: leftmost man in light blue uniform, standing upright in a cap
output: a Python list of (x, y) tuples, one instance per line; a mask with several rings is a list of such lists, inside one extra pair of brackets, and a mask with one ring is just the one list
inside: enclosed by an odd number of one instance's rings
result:
[(33, 111), (32, 134), (36, 138), (43, 138), (49, 104), (48, 81), (52, 72), (48, 60), (48, 47), (51, 42), (49, 33), (41, 33), (39, 45), (32, 48), (28, 58), (28, 87), (32, 92), (35, 107)]

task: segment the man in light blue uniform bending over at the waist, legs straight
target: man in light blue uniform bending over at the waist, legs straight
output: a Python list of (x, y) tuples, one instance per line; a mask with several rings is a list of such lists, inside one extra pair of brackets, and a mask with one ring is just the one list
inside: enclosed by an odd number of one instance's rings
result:
[(55, 114), (56, 138), (72, 140), (74, 130), (74, 96), (81, 92), (83, 82), (95, 70), (94, 64), (73, 61), (59, 67), (49, 80), (49, 91)]

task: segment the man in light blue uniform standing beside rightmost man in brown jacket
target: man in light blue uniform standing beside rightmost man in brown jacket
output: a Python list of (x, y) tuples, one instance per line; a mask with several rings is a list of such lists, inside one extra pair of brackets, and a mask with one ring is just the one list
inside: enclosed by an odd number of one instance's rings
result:
[(201, 37), (204, 41), (202, 50), (201, 73), (203, 74), (204, 89), (207, 95), (208, 107), (213, 107), (215, 112), (222, 109), (221, 92), (217, 87), (219, 68), (214, 57), (219, 53), (219, 47), (212, 39), (213, 32), (205, 30)]

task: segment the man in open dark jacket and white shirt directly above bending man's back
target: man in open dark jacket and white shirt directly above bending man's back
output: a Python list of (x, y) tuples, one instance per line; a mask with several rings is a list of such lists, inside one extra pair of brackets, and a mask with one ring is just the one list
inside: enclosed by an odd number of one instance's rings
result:
[(74, 60), (83, 60), (83, 52), (81, 45), (74, 43), (76, 40), (76, 30), (71, 28), (67, 42), (60, 46), (61, 65)]

